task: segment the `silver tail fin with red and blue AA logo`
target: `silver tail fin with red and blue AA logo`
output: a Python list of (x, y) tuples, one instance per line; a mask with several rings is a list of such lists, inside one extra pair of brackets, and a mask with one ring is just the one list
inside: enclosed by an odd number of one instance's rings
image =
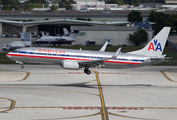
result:
[(161, 57), (171, 27), (164, 27), (144, 48), (129, 52), (131, 54)]

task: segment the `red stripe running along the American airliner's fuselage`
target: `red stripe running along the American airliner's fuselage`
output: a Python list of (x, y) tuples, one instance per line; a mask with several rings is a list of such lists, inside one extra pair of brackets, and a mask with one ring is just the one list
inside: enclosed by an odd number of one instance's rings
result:
[[(10, 54), (8, 53), (7, 56), (18, 56), (18, 57), (33, 57), (33, 58), (47, 58), (47, 59), (65, 59), (65, 60), (78, 60), (78, 61), (91, 61), (93, 59), (80, 59), (80, 58), (66, 58), (66, 57), (50, 57), (50, 56), (36, 56), (36, 55), (23, 55), (23, 54)], [(126, 61), (104, 61), (107, 63), (121, 63), (121, 64), (141, 64), (141, 63), (137, 63), (137, 62), (126, 62)]]

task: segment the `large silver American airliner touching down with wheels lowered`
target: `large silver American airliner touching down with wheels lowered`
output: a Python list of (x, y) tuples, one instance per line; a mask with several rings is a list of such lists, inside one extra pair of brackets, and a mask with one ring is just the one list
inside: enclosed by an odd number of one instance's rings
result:
[[(64, 69), (74, 69), (84, 67), (84, 72), (89, 75), (90, 67), (109, 68), (131, 68), (149, 66), (165, 60), (166, 55), (162, 55), (170, 27), (164, 27), (144, 48), (127, 53), (121, 53), (119, 48), (116, 52), (105, 52), (103, 50), (73, 50), (31, 47), (20, 48), (9, 52), (6, 56), (16, 61), (16, 63), (40, 63), (57, 64)], [(106, 43), (105, 43), (106, 44)]]

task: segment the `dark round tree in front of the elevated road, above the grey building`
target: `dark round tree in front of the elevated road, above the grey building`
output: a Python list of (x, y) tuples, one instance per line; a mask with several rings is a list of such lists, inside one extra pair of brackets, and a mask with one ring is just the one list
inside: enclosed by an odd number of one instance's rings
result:
[(133, 22), (141, 22), (143, 18), (141, 17), (141, 13), (136, 10), (132, 10), (128, 15), (127, 21), (130, 22), (130, 24), (133, 24)]

